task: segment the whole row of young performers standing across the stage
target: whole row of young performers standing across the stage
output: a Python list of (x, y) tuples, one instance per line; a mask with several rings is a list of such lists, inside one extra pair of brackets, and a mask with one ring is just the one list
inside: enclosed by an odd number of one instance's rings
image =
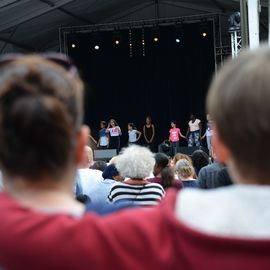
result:
[[(185, 135), (182, 134), (179, 127), (177, 127), (176, 121), (171, 121), (171, 129), (169, 130), (169, 141), (173, 150), (173, 154), (177, 153), (179, 147), (180, 138), (184, 138), (188, 142), (188, 146), (201, 146), (201, 141), (206, 138), (207, 147), (209, 153), (212, 153), (212, 125), (210, 116), (207, 115), (207, 123), (205, 127), (205, 133), (202, 135), (202, 123), (201, 120), (196, 118), (194, 114), (190, 115), (190, 121), (188, 122), (188, 129)], [(117, 149), (120, 151), (120, 136), (122, 131), (120, 126), (114, 119), (110, 119), (108, 124), (105, 121), (100, 122), (99, 139), (96, 142), (99, 149)], [(128, 143), (136, 144), (143, 136), (145, 146), (149, 147), (153, 151), (153, 142), (155, 139), (156, 130), (152, 123), (150, 116), (145, 119), (143, 126), (143, 132), (136, 129), (133, 123), (128, 123)]]

